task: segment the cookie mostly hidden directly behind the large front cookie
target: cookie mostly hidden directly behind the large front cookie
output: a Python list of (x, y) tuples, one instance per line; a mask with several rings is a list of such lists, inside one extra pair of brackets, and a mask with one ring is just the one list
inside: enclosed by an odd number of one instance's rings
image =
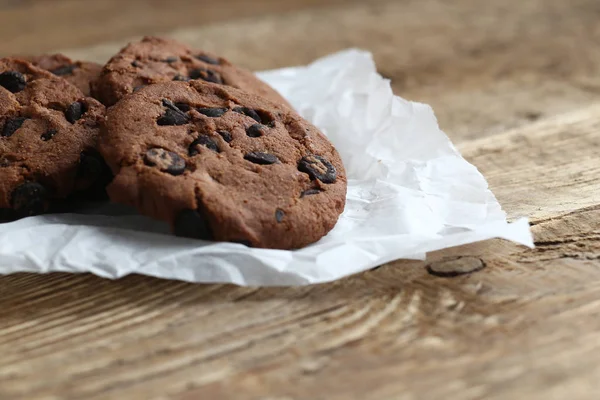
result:
[(145, 37), (131, 43), (111, 58), (92, 85), (92, 94), (112, 106), (124, 96), (153, 83), (195, 79), (243, 89), (290, 107), (279, 93), (252, 72), (224, 58), (158, 37)]

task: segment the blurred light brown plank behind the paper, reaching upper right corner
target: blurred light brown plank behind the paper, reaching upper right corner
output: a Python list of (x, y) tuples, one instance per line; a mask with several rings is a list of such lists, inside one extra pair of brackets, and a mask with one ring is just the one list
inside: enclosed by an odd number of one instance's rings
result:
[[(388, 0), (170, 35), (255, 70), (370, 50), (394, 91), (431, 104), (459, 142), (600, 99), (599, 15), (596, 0)], [(105, 61), (126, 41), (69, 53)]]

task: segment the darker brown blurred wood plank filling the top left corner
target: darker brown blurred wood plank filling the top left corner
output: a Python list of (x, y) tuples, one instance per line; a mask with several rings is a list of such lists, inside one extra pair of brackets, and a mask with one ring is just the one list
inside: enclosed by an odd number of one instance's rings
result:
[(186, 26), (204, 26), (322, 8), (353, 0), (29, 0), (0, 1), (0, 56), (48, 52), (139, 34), (158, 34)]

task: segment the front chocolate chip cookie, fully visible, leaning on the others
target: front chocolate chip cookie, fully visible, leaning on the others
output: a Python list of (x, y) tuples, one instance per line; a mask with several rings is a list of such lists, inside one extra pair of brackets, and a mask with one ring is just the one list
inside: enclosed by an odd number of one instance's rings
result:
[(111, 200), (167, 221), (175, 234), (295, 249), (344, 209), (333, 145), (285, 106), (204, 83), (148, 86), (108, 109), (100, 152)]

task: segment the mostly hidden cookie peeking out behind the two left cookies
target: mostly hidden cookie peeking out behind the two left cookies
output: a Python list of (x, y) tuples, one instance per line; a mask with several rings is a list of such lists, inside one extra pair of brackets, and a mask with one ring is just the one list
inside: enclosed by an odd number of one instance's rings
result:
[(102, 65), (87, 62), (73, 61), (62, 54), (45, 54), (41, 56), (25, 57), (38, 68), (52, 72), (56, 76), (66, 79), (77, 86), (85, 96), (90, 96), (90, 84), (100, 76)]

